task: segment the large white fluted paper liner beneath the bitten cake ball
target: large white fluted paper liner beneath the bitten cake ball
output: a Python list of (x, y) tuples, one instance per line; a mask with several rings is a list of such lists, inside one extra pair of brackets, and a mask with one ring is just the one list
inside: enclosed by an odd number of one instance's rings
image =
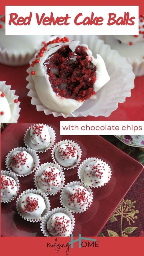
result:
[(32, 67), (29, 67), (27, 69), (29, 75), (26, 80), (29, 82), (27, 88), (29, 89), (28, 96), (32, 98), (31, 104), (36, 105), (37, 111), (44, 111), (46, 115), (53, 114), (55, 117), (110, 116), (111, 112), (118, 108), (118, 102), (125, 102), (125, 98), (131, 96), (131, 89), (134, 88), (135, 78), (132, 66), (116, 50), (111, 50), (109, 45), (104, 44), (103, 40), (98, 39), (98, 36), (68, 35), (68, 38), (70, 40), (79, 40), (81, 44), (87, 44), (94, 57), (96, 57), (96, 54), (101, 55), (105, 61), (110, 81), (98, 90), (96, 100), (88, 99), (80, 108), (66, 115), (53, 112), (42, 104), (32, 79)]

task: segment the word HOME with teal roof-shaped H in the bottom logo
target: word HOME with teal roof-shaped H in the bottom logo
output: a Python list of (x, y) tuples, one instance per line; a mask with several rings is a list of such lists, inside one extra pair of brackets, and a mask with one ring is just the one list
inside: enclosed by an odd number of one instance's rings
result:
[[(82, 240), (86, 240), (86, 241), (82, 241)], [(90, 242), (90, 241), (92, 241), (92, 242)], [(74, 248), (74, 243), (76, 243), (76, 242), (78, 242), (79, 248), (81, 248), (81, 247), (99, 247), (97, 239), (82, 237), (80, 234), (79, 238), (74, 240), (74, 235), (72, 234), (71, 242), (69, 242), (69, 244), (71, 244), (71, 248)]]

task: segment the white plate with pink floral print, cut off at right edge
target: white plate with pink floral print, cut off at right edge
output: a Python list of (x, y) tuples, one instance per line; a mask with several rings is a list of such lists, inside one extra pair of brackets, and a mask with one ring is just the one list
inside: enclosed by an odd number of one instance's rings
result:
[(115, 135), (115, 137), (128, 146), (144, 148), (144, 135)]

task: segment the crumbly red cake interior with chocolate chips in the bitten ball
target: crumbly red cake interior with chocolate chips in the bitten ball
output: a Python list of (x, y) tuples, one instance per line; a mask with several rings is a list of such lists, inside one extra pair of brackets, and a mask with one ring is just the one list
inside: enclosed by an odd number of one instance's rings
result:
[(43, 63), (53, 91), (61, 97), (84, 101), (95, 94), (96, 66), (86, 50), (78, 45), (72, 52), (68, 46), (62, 46)]

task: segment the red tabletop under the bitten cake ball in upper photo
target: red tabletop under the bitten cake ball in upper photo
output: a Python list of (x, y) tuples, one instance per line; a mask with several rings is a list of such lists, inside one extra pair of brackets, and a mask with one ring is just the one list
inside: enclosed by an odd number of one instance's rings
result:
[(43, 111), (38, 112), (36, 106), (31, 105), (31, 98), (27, 96), (29, 92), (26, 89), (28, 82), (27, 77), (27, 66), (23, 67), (9, 67), (0, 64), (0, 81), (6, 80), (6, 85), (12, 85), (12, 89), (16, 90), (16, 95), (19, 95), (19, 101), (21, 102), (19, 123), (39, 122), (43, 123), (48, 120), (57, 119), (60, 120), (94, 120), (94, 121), (143, 121), (144, 120), (144, 108), (143, 108), (143, 95), (144, 95), (144, 76), (135, 78), (135, 88), (131, 90), (131, 97), (126, 98), (124, 103), (118, 104), (118, 109), (113, 111), (109, 117), (77, 117), (77, 118), (63, 118), (53, 117), (53, 115), (45, 115)]

